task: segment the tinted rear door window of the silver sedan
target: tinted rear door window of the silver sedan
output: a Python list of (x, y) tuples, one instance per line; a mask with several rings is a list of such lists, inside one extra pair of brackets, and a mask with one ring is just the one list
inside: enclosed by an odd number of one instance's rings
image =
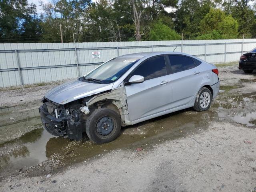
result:
[(181, 55), (169, 55), (172, 73), (192, 69), (195, 67), (194, 60), (192, 58)]

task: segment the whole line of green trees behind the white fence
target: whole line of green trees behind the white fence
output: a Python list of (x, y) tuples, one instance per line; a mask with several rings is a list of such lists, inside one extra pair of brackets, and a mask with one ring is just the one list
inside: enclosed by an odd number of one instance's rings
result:
[(182, 33), (185, 40), (254, 38), (252, 1), (49, 0), (41, 2), (37, 15), (28, 0), (0, 0), (0, 42), (60, 42), (60, 25), (64, 42), (134, 41), (135, 33), (144, 41), (179, 40)]

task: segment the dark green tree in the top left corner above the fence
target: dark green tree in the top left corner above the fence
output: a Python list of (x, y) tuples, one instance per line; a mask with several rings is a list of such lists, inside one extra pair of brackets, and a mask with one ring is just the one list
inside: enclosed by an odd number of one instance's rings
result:
[(39, 22), (35, 4), (27, 0), (0, 1), (0, 37), (4, 42), (38, 41)]

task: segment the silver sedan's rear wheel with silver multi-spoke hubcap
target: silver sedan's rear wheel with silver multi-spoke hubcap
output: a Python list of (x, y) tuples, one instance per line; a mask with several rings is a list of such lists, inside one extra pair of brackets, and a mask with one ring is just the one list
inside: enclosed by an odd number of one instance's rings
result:
[(211, 91), (206, 87), (202, 87), (198, 91), (198, 94), (196, 95), (194, 110), (196, 110), (196, 111), (206, 111), (210, 108), (211, 103), (212, 103), (212, 93), (211, 93)]

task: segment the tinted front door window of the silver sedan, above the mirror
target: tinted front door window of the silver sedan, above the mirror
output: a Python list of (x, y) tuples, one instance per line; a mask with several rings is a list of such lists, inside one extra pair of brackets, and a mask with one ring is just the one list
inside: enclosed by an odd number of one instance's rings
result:
[(149, 80), (166, 75), (164, 56), (154, 57), (142, 63), (133, 75), (144, 76), (144, 80)]

